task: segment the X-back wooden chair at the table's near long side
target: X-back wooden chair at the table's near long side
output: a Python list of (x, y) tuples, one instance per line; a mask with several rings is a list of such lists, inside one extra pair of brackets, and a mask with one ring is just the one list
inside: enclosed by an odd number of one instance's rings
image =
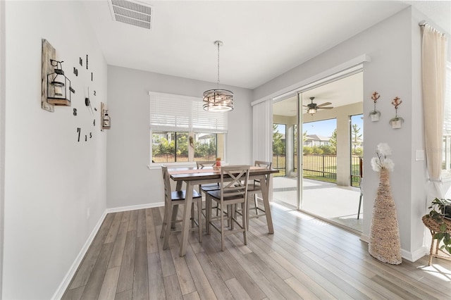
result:
[[(245, 245), (247, 244), (246, 214), (243, 214), (240, 224), (235, 218), (233, 208), (241, 204), (242, 211), (247, 206), (247, 182), (249, 180), (249, 165), (228, 165), (221, 167), (221, 189), (206, 192), (206, 233), (210, 233), (210, 226), (221, 233), (221, 251), (224, 251), (224, 239), (226, 235), (242, 232)], [(211, 203), (219, 204), (219, 215), (212, 218)], [(226, 211), (227, 209), (227, 211)], [(228, 230), (224, 223), (228, 221)], [(234, 228), (237, 225), (237, 229)]]

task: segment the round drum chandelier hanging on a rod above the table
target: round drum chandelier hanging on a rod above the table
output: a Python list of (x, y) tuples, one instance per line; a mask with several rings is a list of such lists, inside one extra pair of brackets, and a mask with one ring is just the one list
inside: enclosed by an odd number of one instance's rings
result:
[(219, 89), (219, 46), (223, 42), (214, 42), (218, 46), (218, 88), (204, 92), (204, 111), (233, 111), (233, 92)]

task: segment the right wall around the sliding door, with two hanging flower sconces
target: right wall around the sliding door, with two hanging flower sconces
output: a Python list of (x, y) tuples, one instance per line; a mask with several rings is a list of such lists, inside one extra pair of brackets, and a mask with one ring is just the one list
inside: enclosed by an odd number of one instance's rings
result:
[[(400, 223), (401, 246), (404, 257), (410, 260), (421, 257), (426, 251), (423, 248), (421, 216), (428, 201), (426, 165), (424, 161), (414, 161), (415, 149), (424, 149), (423, 136), (419, 134), (422, 131), (421, 89), (418, 84), (420, 27), (419, 20), (414, 19), (412, 9), (407, 8), (254, 90), (254, 99), (262, 99), (362, 54), (371, 57), (371, 62), (364, 63), (363, 111), (368, 115), (373, 109), (370, 97), (377, 91), (381, 94), (377, 105), (381, 119), (377, 123), (364, 119), (363, 235), (369, 235), (378, 185), (378, 173), (371, 170), (370, 160), (376, 145), (386, 142), (393, 149), (395, 170), (390, 174), (390, 182)], [(391, 105), (395, 96), (403, 101), (398, 115), (405, 122), (399, 130), (391, 129), (388, 124), (395, 116)]]

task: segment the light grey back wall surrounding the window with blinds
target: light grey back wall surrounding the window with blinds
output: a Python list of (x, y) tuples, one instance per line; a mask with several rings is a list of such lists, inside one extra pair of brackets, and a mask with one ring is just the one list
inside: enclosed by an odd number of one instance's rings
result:
[[(149, 91), (202, 97), (211, 82), (173, 77), (109, 65), (108, 94), (111, 130), (108, 132), (107, 206), (154, 206), (164, 201), (161, 169), (149, 170)], [(226, 161), (252, 164), (252, 92), (223, 87), (235, 93), (228, 112)]]

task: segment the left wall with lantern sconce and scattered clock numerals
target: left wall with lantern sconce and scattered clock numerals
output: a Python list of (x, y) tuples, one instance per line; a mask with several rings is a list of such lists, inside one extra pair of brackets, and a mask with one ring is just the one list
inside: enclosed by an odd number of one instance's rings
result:
[[(92, 128), (94, 116), (84, 105), (87, 87), (97, 92), (90, 99), (98, 110), (100, 101), (107, 101), (106, 63), (81, 2), (6, 1), (5, 8), (1, 298), (51, 299), (106, 209), (106, 134), (99, 130), (99, 113)], [(75, 89), (72, 106), (56, 107), (54, 113), (41, 109), (42, 38), (64, 61), (63, 70)], [(78, 108), (78, 116), (73, 108)], [(77, 127), (83, 134), (92, 130), (92, 139), (77, 142)]]

